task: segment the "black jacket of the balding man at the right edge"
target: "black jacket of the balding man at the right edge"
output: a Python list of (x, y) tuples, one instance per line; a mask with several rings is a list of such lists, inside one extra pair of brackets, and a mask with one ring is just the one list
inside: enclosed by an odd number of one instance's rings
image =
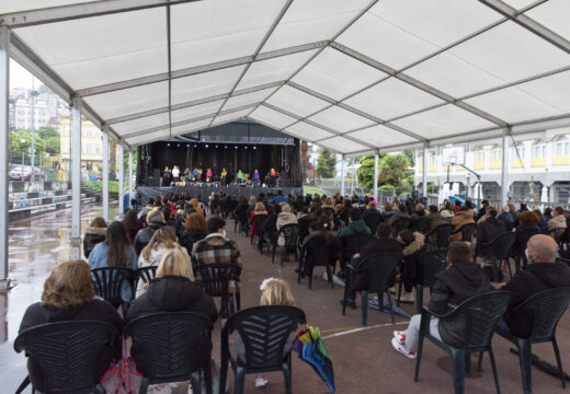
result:
[(533, 263), (525, 270), (516, 273), (501, 289), (510, 293), (504, 320), (514, 336), (531, 336), (534, 314), (531, 311), (514, 313), (512, 309), (538, 291), (559, 287), (570, 287), (570, 267), (566, 263)]

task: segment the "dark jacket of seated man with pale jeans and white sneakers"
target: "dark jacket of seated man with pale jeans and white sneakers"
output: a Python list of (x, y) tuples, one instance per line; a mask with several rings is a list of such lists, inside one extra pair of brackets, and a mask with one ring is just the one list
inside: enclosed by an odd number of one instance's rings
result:
[[(475, 263), (455, 262), (437, 274), (436, 278), (428, 308), (438, 314), (449, 312), (474, 296), (493, 290), (489, 277)], [(463, 347), (465, 328), (463, 316), (440, 320), (440, 336), (447, 345)]]

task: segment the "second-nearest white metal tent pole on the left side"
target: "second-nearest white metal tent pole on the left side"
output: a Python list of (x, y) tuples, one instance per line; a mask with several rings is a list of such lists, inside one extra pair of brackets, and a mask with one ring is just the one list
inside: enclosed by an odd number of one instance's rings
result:
[(71, 101), (71, 251), (81, 256), (81, 99)]

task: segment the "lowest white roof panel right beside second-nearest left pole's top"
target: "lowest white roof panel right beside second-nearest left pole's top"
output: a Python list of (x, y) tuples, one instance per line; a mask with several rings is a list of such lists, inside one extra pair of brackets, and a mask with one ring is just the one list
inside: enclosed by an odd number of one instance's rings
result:
[(104, 119), (168, 106), (168, 83), (157, 82), (95, 94), (84, 101)]

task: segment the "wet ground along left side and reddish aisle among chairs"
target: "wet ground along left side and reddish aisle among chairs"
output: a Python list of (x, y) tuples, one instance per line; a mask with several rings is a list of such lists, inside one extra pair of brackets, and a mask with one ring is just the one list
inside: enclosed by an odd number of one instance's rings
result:
[[(98, 206), (87, 206), (82, 212), (84, 227), (95, 216), (101, 215)], [(111, 212), (112, 216), (116, 211)], [(12, 223), (10, 227), (10, 278), (18, 286), (8, 294), (0, 294), (0, 313), (3, 324), (0, 327), (0, 393), (13, 393), (26, 375), (25, 357), (13, 350), (13, 340), (22, 315), (29, 304), (39, 300), (43, 282), (50, 269), (69, 256), (69, 234), (71, 228), (70, 210), (58, 211), (43, 217)], [(453, 393), (453, 376), (451, 362), (445, 354), (431, 344), (424, 345), (424, 356), (420, 381), (413, 382), (414, 361), (397, 354), (390, 344), (394, 329), (404, 328), (407, 320), (397, 317), (397, 325), (390, 324), (388, 314), (371, 310), (368, 327), (361, 327), (361, 310), (347, 310), (342, 316), (339, 300), (343, 288), (334, 289), (323, 280), (314, 280), (314, 290), (308, 290), (307, 280), (297, 283), (293, 271), (296, 263), (275, 264), (271, 257), (260, 255), (250, 246), (243, 235), (235, 234), (233, 224), (228, 223), (228, 236), (238, 242), (243, 258), (242, 308), (258, 305), (259, 285), (264, 278), (281, 277), (290, 286), (297, 305), (306, 314), (308, 322), (319, 326), (323, 333), (326, 346), (334, 363), (338, 393)], [(321, 274), (323, 267), (316, 268)], [(429, 294), (425, 293), (424, 299)], [(403, 304), (408, 313), (414, 312), (414, 306)], [(216, 323), (213, 338), (215, 341), (214, 357), (219, 361), (220, 323)], [(570, 372), (570, 313), (566, 313), (558, 325), (557, 337), (562, 355), (562, 364)], [(521, 374), (518, 359), (509, 349), (510, 344), (494, 337), (493, 349), (499, 370), (499, 380), (503, 393), (521, 393)], [(548, 344), (533, 347), (540, 359), (555, 362), (551, 346)], [(320, 394), (328, 390), (315, 372), (303, 361), (293, 357), (293, 391), (295, 393)], [(494, 384), (488, 356), (483, 359), (482, 371), (474, 371), (466, 379), (466, 393), (494, 393)], [(254, 389), (253, 375), (246, 379), (246, 393), (284, 393), (281, 373), (269, 373), (270, 383), (264, 389)], [(230, 379), (232, 379), (230, 374)], [(534, 393), (563, 393), (560, 380), (547, 375), (533, 368)], [(185, 393), (179, 385), (173, 393)]]

